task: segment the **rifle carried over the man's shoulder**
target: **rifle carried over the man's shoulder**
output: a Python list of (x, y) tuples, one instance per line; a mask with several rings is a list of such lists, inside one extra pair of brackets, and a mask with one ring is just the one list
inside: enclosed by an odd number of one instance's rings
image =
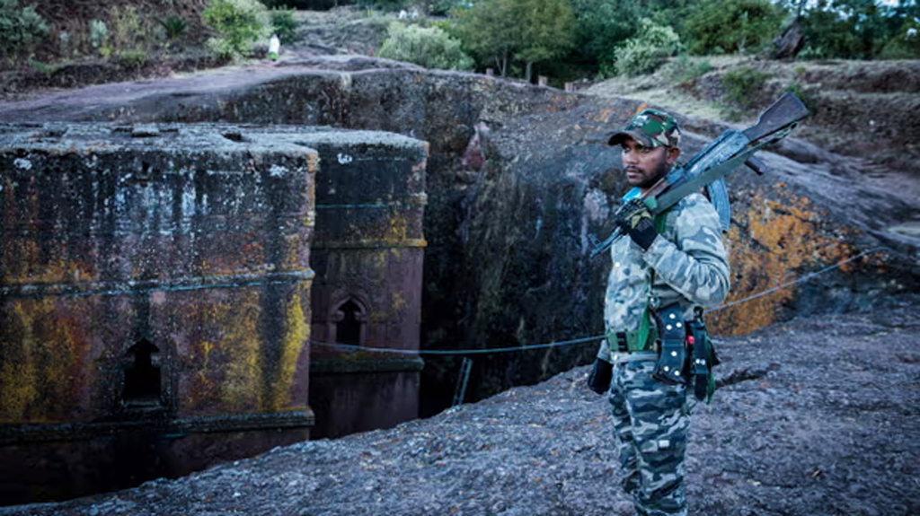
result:
[[(641, 196), (643, 202), (652, 215), (658, 215), (677, 204), (684, 196), (706, 186), (709, 199), (719, 213), (722, 230), (728, 230), (729, 194), (722, 176), (742, 163), (757, 174), (764, 174), (764, 163), (756, 159), (753, 153), (785, 138), (807, 115), (808, 108), (799, 97), (791, 93), (780, 96), (761, 113), (756, 124), (744, 130), (730, 129), (723, 132), (683, 167), (673, 169), (658, 180)], [(604, 252), (621, 234), (617, 228), (609, 238), (594, 246), (591, 255)]]

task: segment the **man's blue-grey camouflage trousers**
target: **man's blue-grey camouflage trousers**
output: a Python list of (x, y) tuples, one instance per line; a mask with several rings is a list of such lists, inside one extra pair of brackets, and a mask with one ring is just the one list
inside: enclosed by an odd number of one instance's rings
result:
[(690, 427), (686, 387), (651, 377), (655, 363), (614, 365), (610, 386), (623, 488), (638, 516), (686, 515), (684, 452)]

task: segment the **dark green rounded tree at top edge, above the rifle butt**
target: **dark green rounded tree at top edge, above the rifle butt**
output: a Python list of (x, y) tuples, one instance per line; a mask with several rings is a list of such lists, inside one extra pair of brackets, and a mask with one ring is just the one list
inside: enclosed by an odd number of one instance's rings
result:
[(687, 17), (688, 50), (696, 54), (760, 50), (776, 37), (786, 13), (769, 0), (704, 0)]

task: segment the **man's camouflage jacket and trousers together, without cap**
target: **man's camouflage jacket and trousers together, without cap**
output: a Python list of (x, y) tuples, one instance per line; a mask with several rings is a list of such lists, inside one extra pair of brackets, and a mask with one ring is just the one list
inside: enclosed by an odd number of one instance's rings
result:
[[(729, 265), (715, 208), (704, 196), (691, 194), (661, 217), (663, 230), (647, 251), (627, 236), (611, 248), (607, 334), (636, 331), (647, 306), (677, 302), (684, 319), (692, 320), (695, 307), (718, 305), (728, 294)], [(684, 386), (652, 378), (658, 358), (652, 350), (620, 353), (604, 341), (597, 356), (613, 364), (609, 400), (621, 480), (636, 513), (686, 514), (684, 451), (692, 397)]]

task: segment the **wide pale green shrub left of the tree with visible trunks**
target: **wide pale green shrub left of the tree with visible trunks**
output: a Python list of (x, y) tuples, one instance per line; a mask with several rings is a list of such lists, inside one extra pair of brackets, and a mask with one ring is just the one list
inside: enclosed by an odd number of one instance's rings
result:
[(460, 41), (451, 38), (441, 28), (398, 22), (390, 25), (376, 55), (443, 70), (472, 70), (474, 65), (473, 60), (460, 49)]

